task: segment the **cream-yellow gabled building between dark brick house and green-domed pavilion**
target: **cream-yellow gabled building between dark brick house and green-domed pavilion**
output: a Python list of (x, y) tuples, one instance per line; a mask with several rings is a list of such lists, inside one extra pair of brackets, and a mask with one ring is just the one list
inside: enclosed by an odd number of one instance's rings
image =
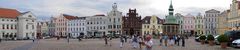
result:
[(162, 33), (163, 19), (157, 16), (146, 16), (142, 19), (142, 35), (158, 35)]

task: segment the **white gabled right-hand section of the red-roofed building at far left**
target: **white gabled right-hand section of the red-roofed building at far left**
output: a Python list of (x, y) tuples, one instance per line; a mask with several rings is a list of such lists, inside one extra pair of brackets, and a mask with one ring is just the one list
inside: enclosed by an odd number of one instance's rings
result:
[(25, 38), (36, 38), (37, 32), (37, 22), (36, 16), (34, 16), (31, 12), (25, 12), (18, 16), (18, 39)]

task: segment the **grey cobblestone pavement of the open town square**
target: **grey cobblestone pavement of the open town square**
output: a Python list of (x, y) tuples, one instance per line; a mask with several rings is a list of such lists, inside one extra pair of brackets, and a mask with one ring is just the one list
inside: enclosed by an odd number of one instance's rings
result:
[[(125, 43), (123, 48), (120, 48), (119, 42), (119, 39), (114, 39), (111, 42), (112, 46), (106, 46), (103, 39), (83, 39), (83, 41), (80, 42), (76, 39), (71, 39), (69, 43), (66, 39), (44, 39), (35, 43), (32, 43), (32, 41), (5, 41), (0, 43), (0, 50), (140, 50), (132, 48), (131, 43), (129, 42)], [(201, 45), (200, 43), (195, 42), (193, 38), (186, 40), (185, 47), (165, 47), (159, 46), (158, 44), (158, 41), (154, 40), (154, 47), (152, 50), (240, 50), (231, 47), (221, 49), (218, 45)]]

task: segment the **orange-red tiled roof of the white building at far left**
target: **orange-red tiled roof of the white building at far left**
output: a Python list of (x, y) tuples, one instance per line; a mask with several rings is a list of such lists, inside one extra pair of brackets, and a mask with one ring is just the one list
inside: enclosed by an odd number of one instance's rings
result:
[(15, 9), (0, 8), (0, 18), (17, 18), (21, 13)]

